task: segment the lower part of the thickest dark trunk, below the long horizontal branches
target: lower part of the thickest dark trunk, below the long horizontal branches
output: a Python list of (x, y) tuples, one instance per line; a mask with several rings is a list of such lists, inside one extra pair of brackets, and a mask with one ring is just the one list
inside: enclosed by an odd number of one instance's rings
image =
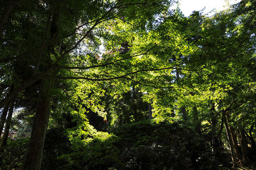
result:
[(24, 169), (26, 170), (38, 170), (41, 168), (45, 134), (48, 126), (49, 114), (51, 111), (52, 86), (52, 80), (45, 80), (42, 82), (42, 87), (40, 89), (41, 95), (36, 108), (34, 125), (29, 141), (26, 162), (24, 165)]

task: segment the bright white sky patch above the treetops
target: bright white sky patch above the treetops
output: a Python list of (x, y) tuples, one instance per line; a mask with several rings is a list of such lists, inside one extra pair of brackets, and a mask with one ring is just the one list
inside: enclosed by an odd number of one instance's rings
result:
[[(230, 4), (239, 3), (241, 0), (230, 0)], [(227, 0), (179, 0), (179, 8), (188, 17), (193, 11), (199, 11), (205, 8), (204, 14), (211, 10), (225, 10), (227, 8)]]

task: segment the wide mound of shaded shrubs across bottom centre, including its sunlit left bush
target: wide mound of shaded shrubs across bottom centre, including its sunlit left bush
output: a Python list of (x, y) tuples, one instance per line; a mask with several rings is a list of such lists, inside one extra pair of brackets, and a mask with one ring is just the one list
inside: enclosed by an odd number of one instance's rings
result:
[[(213, 168), (207, 139), (179, 122), (140, 121), (97, 132), (60, 157), (76, 169)], [(216, 166), (216, 165), (215, 165)]]

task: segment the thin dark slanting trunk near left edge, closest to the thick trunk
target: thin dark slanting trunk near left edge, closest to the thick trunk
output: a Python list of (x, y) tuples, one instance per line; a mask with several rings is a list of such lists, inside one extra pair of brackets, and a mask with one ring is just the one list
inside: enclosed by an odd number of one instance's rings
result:
[(6, 120), (5, 128), (4, 128), (4, 135), (3, 135), (2, 143), (0, 146), (0, 151), (3, 149), (3, 146), (6, 146), (6, 144), (7, 144), (8, 134), (9, 134), (10, 125), (11, 125), (11, 121), (12, 121), (13, 108), (14, 108), (14, 101), (11, 103), (10, 109), (8, 112), (8, 116), (7, 116), (7, 120)]

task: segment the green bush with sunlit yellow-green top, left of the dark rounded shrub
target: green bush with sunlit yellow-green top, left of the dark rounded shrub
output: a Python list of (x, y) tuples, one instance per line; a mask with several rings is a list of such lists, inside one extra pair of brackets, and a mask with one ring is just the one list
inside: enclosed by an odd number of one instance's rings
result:
[(81, 139), (81, 143), (73, 143), (72, 153), (61, 155), (68, 166), (76, 169), (106, 169), (122, 167), (119, 151), (115, 144), (118, 137), (106, 132), (97, 132), (92, 137)]

